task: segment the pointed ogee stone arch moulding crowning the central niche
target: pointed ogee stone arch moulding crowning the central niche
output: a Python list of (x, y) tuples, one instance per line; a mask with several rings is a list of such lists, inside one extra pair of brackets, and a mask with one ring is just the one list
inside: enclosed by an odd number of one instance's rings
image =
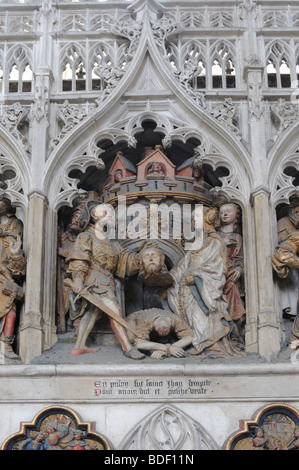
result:
[[(134, 7), (134, 5), (132, 5), (132, 7)], [(87, 138), (87, 134), (90, 134), (96, 125), (98, 125), (98, 128), (100, 128), (103, 132), (105, 132), (105, 130), (115, 129), (115, 123), (119, 122), (120, 120), (120, 118), (117, 118), (117, 116), (119, 116), (119, 109), (122, 109), (123, 106), (126, 106), (124, 103), (127, 103), (127, 106), (131, 109), (132, 106), (136, 105), (133, 102), (131, 103), (128, 97), (134, 95), (134, 91), (136, 92), (134, 89), (136, 76), (138, 76), (142, 70), (144, 66), (144, 60), (149, 55), (153, 63), (156, 64), (155, 73), (159, 74), (160, 77), (157, 82), (160, 84), (167, 83), (167, 90), (164, 90), (165, 93), (167, 92), (166, 98), (162, 96), (163, 94), (161, 95), (161, 98), (159, 98), (160, 109), (161, 102), (163, 102), (164, 106), (168, 106), (170, 101), (175, 102), (175, 106), (179, 110), (179, 115), (184, 116), (184, 118), (187, 117), (188, 119), (186, 122), (190, 122), (190, 125), (188, 123), (186, 124), (186, 127), (193, 127), (194, 129), (197, 129), (198, 132), (204, 129), (204, 132), (207, 135), (210, 135), (211, 138), (213, 137), (214, 141), (217, 141), (218, 148), (225, 149), (223, 153), (228, 154), (228, 158), (239, 160), (239, 168), (245, 169), (245, 178), (249, 181), (247, 183), (248, 201), (250, 187), (253, 182), (254, 175), (249, 153), (245, 149), (242, 142), (239, 139), (236, 139), (235, 132), (231, 132), (230, 128), (224, 125), (224, 120), (221, 120), (219, 117), (216, 118), (207, 109), (205, 109), (203, 106), (200, 106), (199, 103), (197, 103), (196, 100), (192, 98), (192, 96), (186, 94), (186, 90), (181, 86), (179, 80), (177, 80), (175, 77), (173, 70), (170, 72), (166, 66), (167, 63), (165, 61), (165, 57), (159, 49), (157, 38), (155, 37), (155, 33), (153, 31), (153, 22), (151, 22), (151, 19), (147, 17), (145, 10), (142, 12), (142, 15), (144, 17), (143, 29), (139, 37), (138, 46), (134, 53), (134, 57), (132, 58), (130, 65), (126, 70), (126, 73), (123, 75), (121, 80), (117, 82), (116, 86), (109, 91), (109, 94), (105, 95), (105, 99), (102, 100), (101, 103), (98, 102), (98, 106), (92, 108), (88, 115), (84, 117), (84, 119), (80, 121), (75, 126), (75, 128), (70, 129), (62, 141), (59, 142), (55, 149), (53, 149), (49, 155), (47, 163), (48, 168), (53, 168), (53, 166), (55, 166), (58, 161), (61, 161), (63, 158), (65, 158), (67, 154), (69, 155), (70, 148), (74, 147), (76, 143), (79, 145), (79, 142), (85, 140)], [(171, 65), (169, 65), (169, 67), (171, 67)], [(154, 83), (155, 80), (152, 77), (151, 79)], [(161, 90), (158, 91), (160, 96)], [(145, 106), (147, 106), (146, 102), (150, 102), (152, 98), (151, 93), (152, 90), (149, 91), (148, 97), (146, 95), (144, 96)], [(128, 96), (125, 96), (126, 94)], [(169, 99), (170, 96), (172, 97), (171, 100)], [(136, 108), (137, 113), (138, 111), (140, 111), (140, 106), (137, 106)], [(159, 112), (159, 114), (161, 115), (161, 112)], [(111, 122), (110, 116), (116, 116), (116, 118), (113, 119), (113, 122)], [(234, 131), (237, 129), (232, 126), (231, 128), (233, 128)], [(134, 143), (133, 136), (130, 136), (129, 139), (126, 140), (128, 142), (132, 141)], [(50, 171), (52, 172), (51, 169)], [(48, 178), (47, 175), (46, 178)], [(240, 176), (240, 179), (242, 181), (244, 180), (243, 174)], [(46, 188), (45, 192), (47, 193)], [(242, 194), (244, 194), (244, 192), (242, 192)]]

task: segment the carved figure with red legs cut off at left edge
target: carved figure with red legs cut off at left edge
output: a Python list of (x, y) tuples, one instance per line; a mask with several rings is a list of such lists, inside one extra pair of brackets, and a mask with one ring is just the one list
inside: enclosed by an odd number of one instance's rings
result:
[(22, 300), (20, 283), (25, 276), (26, 260), (22, 251), (23, 224), (5, 197), (0, 198), (0, 340), (1, 353), (18, 358), (13, 351), (17, 301)]

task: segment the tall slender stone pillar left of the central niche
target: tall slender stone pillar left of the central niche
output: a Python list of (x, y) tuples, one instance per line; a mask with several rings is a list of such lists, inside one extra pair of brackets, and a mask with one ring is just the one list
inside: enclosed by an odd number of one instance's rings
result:
[[(54, 311), (49, 297), (53, 289), (47, 253), (56, 246), (53, 227), (49, 228), (48, 203), (43, 188), (43, 176), (48, 152), (49, 94), (52, 84), (52, 32), (56, 10), (51, 0), (43, 0), (37, 20), (40, 32), (36, 45), (34, 102), (30, 112), (31, 127), (31, 186), (26, 220), (26, 289), (20, 324), (20, 356), (25, 363), (53, 345)], [(51, 219), (52, 220), (52, 219)], [(53, 220), (52, 220), (53, 221)], [(56, 222), (55, 222), (56, 223)], [(55, 225), (56, 228), (56, 225)], [(50, 273), (50, 274), (49, 274)], [(54, 297), (55, 298), (55, 297)], [(47, 302), (47, 307), (45, 304)]]

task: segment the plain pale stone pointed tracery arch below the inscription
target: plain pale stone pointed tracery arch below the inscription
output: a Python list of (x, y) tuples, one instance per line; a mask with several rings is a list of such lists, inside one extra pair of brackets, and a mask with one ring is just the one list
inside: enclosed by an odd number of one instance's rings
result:
[(123, 439), (121, 450), (217, 450), (203, 426), (182, 410), (165, 405), (137, 423)]

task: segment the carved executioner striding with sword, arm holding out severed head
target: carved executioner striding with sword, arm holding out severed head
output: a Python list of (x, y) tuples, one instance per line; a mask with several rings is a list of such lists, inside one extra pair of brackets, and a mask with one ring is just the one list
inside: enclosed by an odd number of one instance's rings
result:
[(128, 340), (128, 325), (122, 316), (114, 280), (114, 276), (124, 279), (126, 276), (137, 274), (139, 255), (122, 250), (116, 241), (109, 239), (104, 224), (104, 220), (109, 223), (109, 214), (107, 209), (106, 212), (103, 210), (104, 207), (106, 206), (95, 201), (86, 204), (80, 218), (83, 231), (78, 235), (67, 259), (71, 280), (68, 279), (65, 283), (71, 281), (69, 285), (73, 292), (87, 300), (72, 354), (96, 351), (86, 347), (86, 340), (95, 322), (102, 312), (105, 312), (124, 355), (132, 359), (142, 359), (144, 355), (133, 348)]

